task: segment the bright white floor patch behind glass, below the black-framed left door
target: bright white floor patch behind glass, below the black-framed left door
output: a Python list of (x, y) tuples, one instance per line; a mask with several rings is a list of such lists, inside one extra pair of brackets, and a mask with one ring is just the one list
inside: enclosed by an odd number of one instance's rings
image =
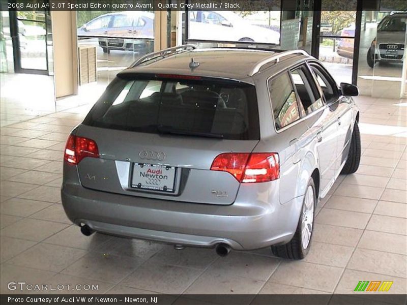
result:
[(55, 112), (52, 76), (0, 74), (0, 126)]

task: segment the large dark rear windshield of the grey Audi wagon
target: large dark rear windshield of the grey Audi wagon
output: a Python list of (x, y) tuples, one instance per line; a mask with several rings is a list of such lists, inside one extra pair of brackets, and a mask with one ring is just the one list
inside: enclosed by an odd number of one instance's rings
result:
[(259, 139), (255, 87), (212, 78), (118, 77), (83, 124), (143, 133)]

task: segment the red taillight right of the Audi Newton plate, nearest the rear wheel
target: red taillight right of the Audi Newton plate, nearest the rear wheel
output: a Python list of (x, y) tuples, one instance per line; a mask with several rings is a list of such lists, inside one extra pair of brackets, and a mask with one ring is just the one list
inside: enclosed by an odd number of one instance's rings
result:
[(280, 177), (280, 161), (276, 153), (225, 153), (211, 170), (228, 172), (242, 183), (267, 182)]

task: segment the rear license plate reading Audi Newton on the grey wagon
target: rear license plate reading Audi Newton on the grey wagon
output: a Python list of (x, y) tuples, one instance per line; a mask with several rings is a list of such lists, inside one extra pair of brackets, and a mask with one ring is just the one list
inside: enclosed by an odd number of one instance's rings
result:
[(134, 163), (131, 187), (173, 193), (175, 191), (175, 173), (175, 167)]

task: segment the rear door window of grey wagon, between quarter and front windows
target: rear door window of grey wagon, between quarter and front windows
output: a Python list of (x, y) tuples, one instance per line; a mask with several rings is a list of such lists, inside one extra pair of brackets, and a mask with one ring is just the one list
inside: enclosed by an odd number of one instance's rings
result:
[(312, 80), (312, 75), (310, 75), (305, 65), (292, 70), (291, 75), (306, 114), (310, 114), (324, 106), (324, 102), (321, 96), (319, 96), (318, 90)]

